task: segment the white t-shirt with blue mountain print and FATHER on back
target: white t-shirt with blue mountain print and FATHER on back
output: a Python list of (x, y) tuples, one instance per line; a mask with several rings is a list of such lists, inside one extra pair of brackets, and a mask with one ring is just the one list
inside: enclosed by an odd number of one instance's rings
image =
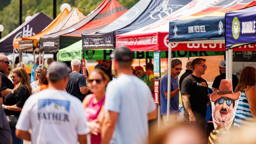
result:
[(76, 144), (90, 132), (81, 101), (61, 90), (31, 95), (22, 108), (16, 129), (32, 130), (33, 144)]

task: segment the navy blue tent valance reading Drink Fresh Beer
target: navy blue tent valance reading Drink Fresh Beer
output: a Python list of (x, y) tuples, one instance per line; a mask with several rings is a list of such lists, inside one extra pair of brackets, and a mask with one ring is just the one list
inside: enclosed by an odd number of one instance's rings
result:
[[(225, 39), (225, 18), (206, 16), (203, 19), (175, 20), (169, 23), (170, 42)], [(209, 37), (209, 38), (208, 38)]]

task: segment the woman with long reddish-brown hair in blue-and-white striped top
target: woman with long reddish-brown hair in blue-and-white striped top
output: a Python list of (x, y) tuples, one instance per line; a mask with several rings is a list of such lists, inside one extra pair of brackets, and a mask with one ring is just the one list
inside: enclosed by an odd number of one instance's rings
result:
[(256, 69), (251, 66), (243, 68), (235, 92), (241, 91), (237, 111), (234, 120), (234, 127), (255, 123), (256, 120)]

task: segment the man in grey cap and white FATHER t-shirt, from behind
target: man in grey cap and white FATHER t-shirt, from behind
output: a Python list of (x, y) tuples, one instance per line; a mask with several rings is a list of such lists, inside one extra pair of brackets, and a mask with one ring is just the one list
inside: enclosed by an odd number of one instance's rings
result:
[[(64, 91), (71, 69), (53, 62), (47, 70), (48, 89), (30, 96), (16, 125), (16, 136), (32, 143), (87, 143), (90, 132), (81, 101)], [(29, 132), (31, 129), (32, 132)]]

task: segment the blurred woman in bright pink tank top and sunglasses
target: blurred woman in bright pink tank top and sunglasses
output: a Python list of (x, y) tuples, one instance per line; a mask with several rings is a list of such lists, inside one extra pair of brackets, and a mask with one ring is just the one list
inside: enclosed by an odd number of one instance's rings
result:
[(87, 125), (91, 130), (91, 144), (101, 143), (101, 125), (104, 118), (105, 91), (109, 76), (101, 69), (93, 69), (89, 76), (89, 86), (92, 94), (83, 100)]

